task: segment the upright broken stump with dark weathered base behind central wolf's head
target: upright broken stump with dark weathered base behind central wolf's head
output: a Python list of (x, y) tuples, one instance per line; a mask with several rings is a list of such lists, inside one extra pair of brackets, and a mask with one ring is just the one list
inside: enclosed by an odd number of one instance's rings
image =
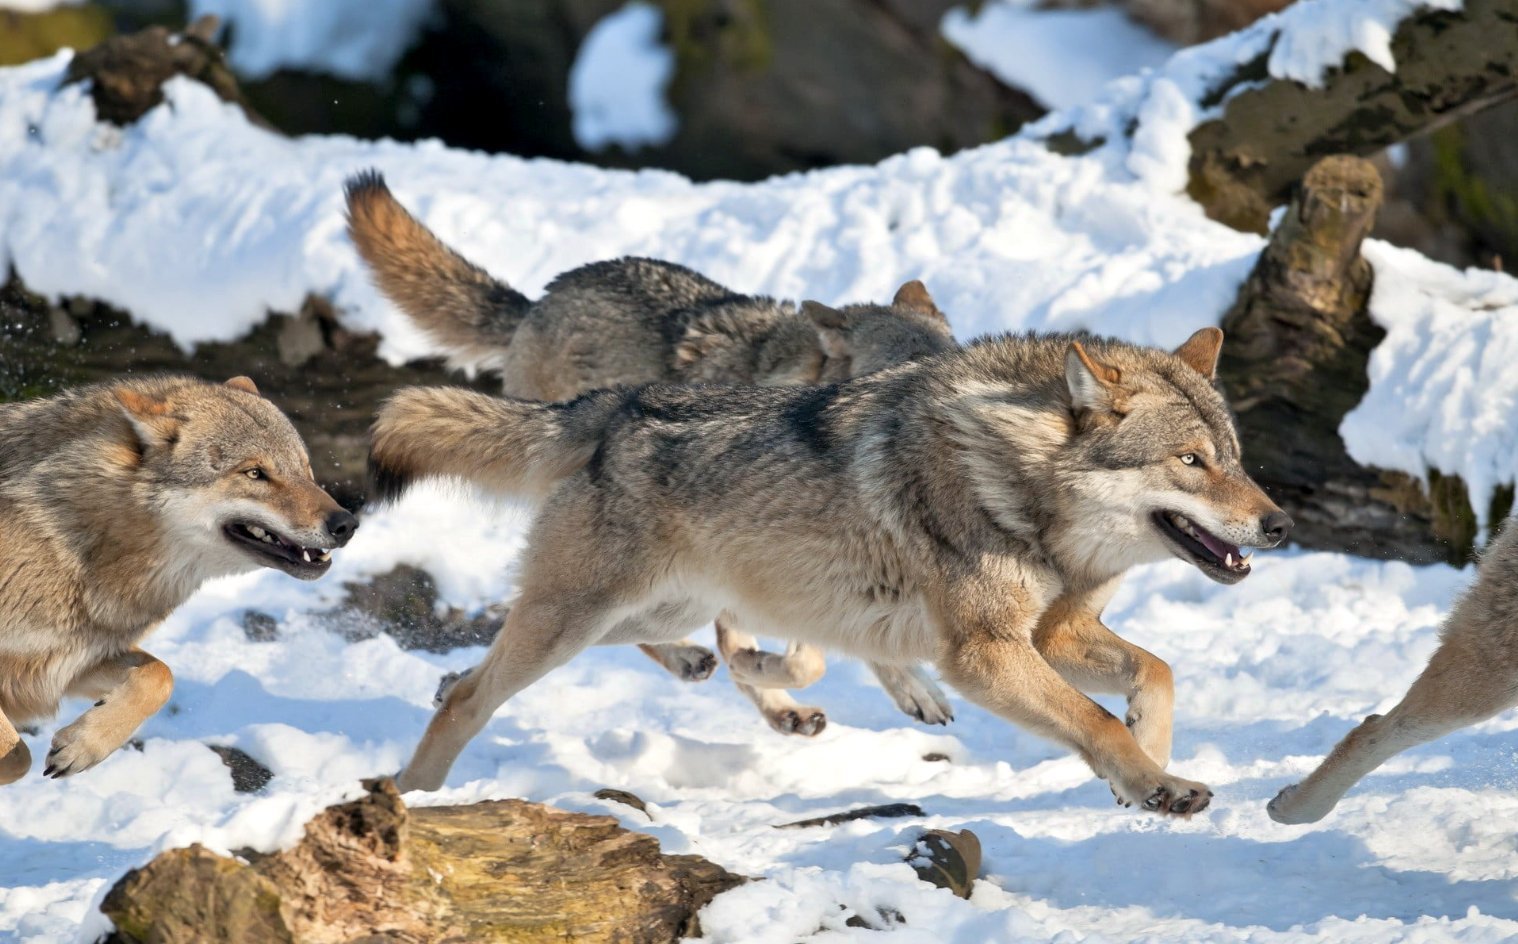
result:
[(1251, 472), (1296, 519), (1293, 540), (1463, 563), (1475, 516), (1460, 480), (1430, 475), (1425, 492), (1406, 474), (1360, 466), (1339, 437), (1384, 335), (1366, 310), (1372, 272), (1360, 256), (1380, 202), (1381, 181), (1368, 161), (1333, 156), (1307, 173), (1224, 316), (1228, 343), (1217, 372)]

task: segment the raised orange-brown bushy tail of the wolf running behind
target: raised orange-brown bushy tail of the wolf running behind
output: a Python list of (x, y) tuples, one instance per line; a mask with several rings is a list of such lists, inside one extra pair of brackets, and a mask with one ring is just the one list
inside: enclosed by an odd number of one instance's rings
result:
[(443, 244), (366, 170), (343, 185), (348, 235), (380, 290), (442, 345), (451, 360), (486, 366), (501, 357), (531, 302)]

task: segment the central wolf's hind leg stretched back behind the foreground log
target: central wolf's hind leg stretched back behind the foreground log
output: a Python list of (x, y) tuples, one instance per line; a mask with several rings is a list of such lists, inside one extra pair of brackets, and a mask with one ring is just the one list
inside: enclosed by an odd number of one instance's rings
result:
[(484, 662), (463, 672), (446, 691), (396, 788), (434, 791), (443, 785), (465, 745), (505, 701), (594, 645), (606, 630), (604, 598), (554, 593), (522, 595), (490, 643)]

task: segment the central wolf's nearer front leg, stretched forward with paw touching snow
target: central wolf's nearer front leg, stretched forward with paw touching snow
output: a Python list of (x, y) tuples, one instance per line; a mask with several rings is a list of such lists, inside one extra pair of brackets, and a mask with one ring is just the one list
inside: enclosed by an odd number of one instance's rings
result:
[[(1005, 586), (952, 587), (940, 607), (938, 668), (967, 698), (1076, 751), (1125, 804), (1189, 815), (1211, 791), (1167, 774), (1111, 712), (1076, 691), (1034, 648), (1032, 592)], [(1034, 606), (1029, 606), (1034, 604)]]

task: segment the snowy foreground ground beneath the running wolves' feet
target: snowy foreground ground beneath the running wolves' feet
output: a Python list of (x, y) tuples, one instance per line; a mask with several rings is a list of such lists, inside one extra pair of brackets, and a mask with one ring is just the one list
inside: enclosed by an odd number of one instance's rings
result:
[[(349, 643), (314, 613), (343, 580), (396, 560), (430, 566), (452, 603), (496, 599), (521, 528), (512, 508), (419, 492), (366, 521), (316, 584), (266, 572), (206, 587), (149, 642), (178, 684), (141, 730), (141, 751), (0, 791), (0, 939), (90, 939), (103, 927), (99, 897), (153, 851), (293, 841), (358, 777), (396, 769), (439, 675), (481, 650)], [(1261, 557), (1237, 587), (1181, 563), (1134, 572), (1108, 622), (1175, 666), (1173, 766), (1217, 791), (1186, 823), (1114, 806), (1079, 760), (962, 700), (947, 728), (917, 725), (855, 663), (835, 660), (808, 694), (830, 724), (805, 741), (770, 732), (726, 672), (680, 683), (627, 647), (587, 653), (513, 700), (445, 791), (411, 800), (528, 797), (604, 812), (669, 851), (767, 877), (704, 912), (713, 942), (871, 939), (844, 921), (880, 908), (906, 920), (893, 939), (924, 944), (1510, 939), (1518, 719), (1394, 760), (1319, 826), (1264, 813), (1351, 724), (1395, 701), (1466, 578), (1305, 552)], [(246, 609), (275, 615), (278, 640), (250, 642)], [(35, 756), (49, 736), (27, 739)], [(235, 744), (275, 780), (235, 794), (205, 744)], [(653, 823), (592, 798), (603, 786), (647, 800)], [(773, 829), (890, 801), (927, 815)], [(923, 826), (979, 835), (987, 877), (970, 902), (902, 864)]]

